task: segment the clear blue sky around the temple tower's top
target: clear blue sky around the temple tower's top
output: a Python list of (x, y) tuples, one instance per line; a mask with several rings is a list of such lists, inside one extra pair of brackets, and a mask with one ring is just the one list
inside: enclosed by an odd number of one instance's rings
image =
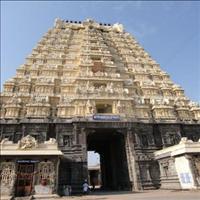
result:
[(124, 24), (186, 95), (200, 101), (200, 3), (1, 2), (1, 83), (15, 74), (54, 19)]

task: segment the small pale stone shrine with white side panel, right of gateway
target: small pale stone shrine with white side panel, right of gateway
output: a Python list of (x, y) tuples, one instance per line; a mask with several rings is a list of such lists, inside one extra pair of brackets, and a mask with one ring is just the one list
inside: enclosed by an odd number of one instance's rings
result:
[(200, 158), (200, 141), (182, 138), (179, 144), (156, 151), (154, 155), (160, 165), (162, 188), (197, 189), (200, 186), (200, 162), (194, 163), (195, 158)]

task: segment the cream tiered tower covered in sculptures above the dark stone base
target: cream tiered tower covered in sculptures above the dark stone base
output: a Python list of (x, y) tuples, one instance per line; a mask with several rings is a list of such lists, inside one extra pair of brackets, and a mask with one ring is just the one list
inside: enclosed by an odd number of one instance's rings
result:
[(123, 26), (56, 20), (4, 84), (3, 119), (90, 117), (198, 121), (200, 108)]

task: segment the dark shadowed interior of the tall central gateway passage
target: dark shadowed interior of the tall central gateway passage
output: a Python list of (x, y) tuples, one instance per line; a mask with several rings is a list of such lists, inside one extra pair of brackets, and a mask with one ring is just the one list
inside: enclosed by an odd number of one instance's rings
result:
[(96, 129), (87, 137), (87, 150), (98, 152), (101, 189), (130, 190), (125, 138), (115, 129)]

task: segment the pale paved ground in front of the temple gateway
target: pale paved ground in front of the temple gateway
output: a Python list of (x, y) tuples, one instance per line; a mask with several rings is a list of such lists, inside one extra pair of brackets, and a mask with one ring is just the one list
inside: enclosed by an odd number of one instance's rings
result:
[(62, 197), (59, 200), (200, 200), (198, 191), (149, 190), (138, 193), (99, 192), (87, 196)]

